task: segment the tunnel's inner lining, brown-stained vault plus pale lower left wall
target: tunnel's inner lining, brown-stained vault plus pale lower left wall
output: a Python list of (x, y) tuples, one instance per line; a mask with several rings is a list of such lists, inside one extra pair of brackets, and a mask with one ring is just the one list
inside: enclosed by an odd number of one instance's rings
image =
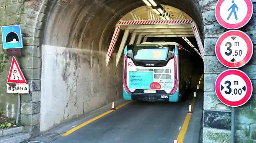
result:
[[(183, 11), (203, 32), (197, 0), (155, 0), (155, 3)], [(116, 66), (115, 58), (123, 30), (109, 67), (105, 56), (116, 23), (145, 3), (142, 0), (52, 0), (47, 5), (51, 9), (42, 45), (41, 132), (122, 98), (123, 63)], [(195, 37), (187, 38), (197, 47)], [(147, 41), (163, 40), (177, 41), (191, 51), (198, 75), (202, 75), (201, 57), (182, 37), (151, 37)]]

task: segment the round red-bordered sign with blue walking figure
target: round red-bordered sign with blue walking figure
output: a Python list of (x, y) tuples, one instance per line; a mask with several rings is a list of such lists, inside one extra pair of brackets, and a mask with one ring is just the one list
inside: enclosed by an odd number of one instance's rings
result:
[(249, 22), (253, 15), (251, 0), (218, 0), (215, 17), (227, 29), (238, 29)]

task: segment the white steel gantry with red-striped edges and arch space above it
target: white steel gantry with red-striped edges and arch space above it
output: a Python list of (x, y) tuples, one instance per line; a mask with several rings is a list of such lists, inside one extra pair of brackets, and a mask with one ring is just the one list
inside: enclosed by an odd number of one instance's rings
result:
[[(142, 38), (143, 42), (146, 42), (148, 37), (182, 37), (204, 60), (204, 47), (201, 42), (199, 31), (197, 30), (197, 24), (190, 16), (188, 16), (188, 14), (172, 6), (157, 6), (155, 3), (155, 6), (152, 8), (151, 6), (153, 4), (151, 5), (148, 1), (143, 2), (148, 6), (141, 6), (130, 11), (117, 22), (106, 54), (106, 66), (109, 65), (121, 29), (125, 30), (125, 32), (118, 49), (116, 66), (119, 64), (121, 53), (124, 50), (130, 33), (132, 33), (132, 36), (130, 37), (129, 44), (133, 44), (136, 37), (136, 44), (140, 44)], [(138, 18), (134, 13), (139, 14), (137, 15)], [(147, 20), (143, 20), (140, 17), (146, 18)], [(133, 18), (133, 21), (130, 20), (131, 18)], [(186, 37), (196, 37), (198, 48), (194, 47), (189, 40), (187, 41)]]

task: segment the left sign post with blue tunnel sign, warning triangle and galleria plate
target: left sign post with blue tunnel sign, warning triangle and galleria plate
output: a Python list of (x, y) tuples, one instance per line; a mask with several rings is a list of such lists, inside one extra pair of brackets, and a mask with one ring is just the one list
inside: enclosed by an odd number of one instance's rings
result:
[(18, 124), (20, 116), (20, 94), (29, 93), (29, 85), (21, 72), (20, 66), (14, 56), (21, 56), (21, 48), (23, 48), (23, 40), (21, 26), (2, 26), (3, 49), (7, 49), (7, 55), (13, 56), (11, 61), (10, 72), (7, 79), (7, 93), (18, 93), (18, 110), (16, 124)]

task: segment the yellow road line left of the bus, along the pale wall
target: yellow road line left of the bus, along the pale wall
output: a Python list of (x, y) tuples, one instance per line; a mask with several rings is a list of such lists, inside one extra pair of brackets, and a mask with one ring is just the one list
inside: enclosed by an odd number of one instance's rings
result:
[[(119, 108), (121, 108), (122, 106), (125, 106), (126, 104), (130, 103), (131, 101), (132, 101), (132, 100), (127, 101), (126, 103), (124, 103), (124, 104), (122, 104), (122, 105), (116, 107), (116, 109), (119, 109)], [(97, 117), (94, 117), (93, 119), (90, 119), (89, 121), (86, 121), (86, 122), (84, 122), (83, 124), (78, 125), (77, 127), (74, 127), (73, 129), (67, 131), (66, 133), (62, 134), (62, 136), (67, 136), (67, 135), (69, 135), (70, 133), (73, 133), (73, 132), (75, 132), (76, 130), (80, 129), (81, 127), (83, 127), (83, 126), (85, 126), (85, 125), (87, 125), (87, 124), (89, 124), (89, 123), (91, 123), (91, 122), (93, 122), (93, 121), (99, 119), (100, 117), (103, 117), (103, 116), (105, 116), (106, 114), (109, 114), (109, 113), (113, 112), (113, 111), (114, 111), (114, 110), (109, 110), (109, 111), (107, 111), (107, 112), (104, 112), (103, 114), (101, 114), (101, 115), (99, 115), (99, 116), (97, 116)]]

